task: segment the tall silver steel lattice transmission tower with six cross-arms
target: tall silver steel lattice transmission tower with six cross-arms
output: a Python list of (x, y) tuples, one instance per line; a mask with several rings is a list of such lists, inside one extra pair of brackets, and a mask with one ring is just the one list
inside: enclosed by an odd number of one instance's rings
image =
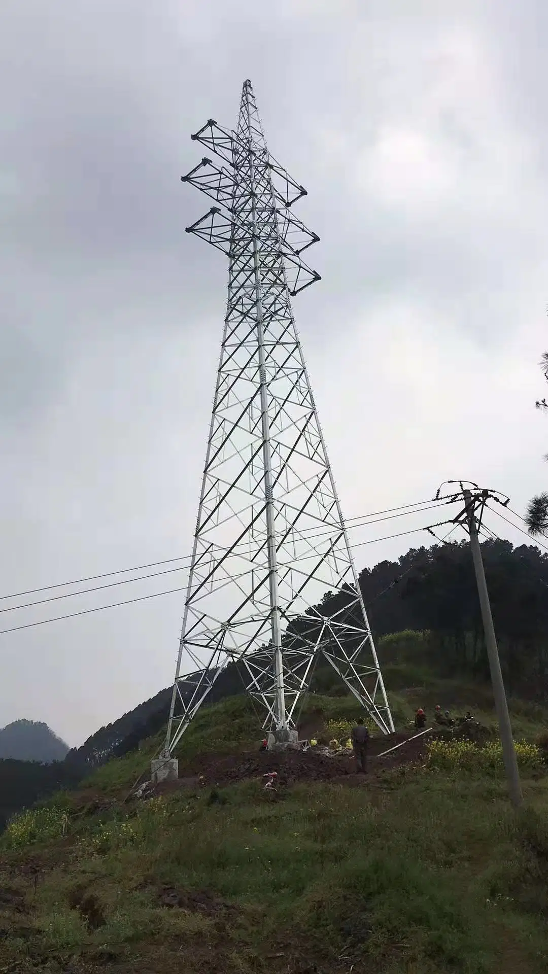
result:
[(274, 740), (294, 738), (320, 654), (393, 731), (291, 305), (320, 280), (292, 208), (306, 191), (269, 154), (250, 81), (236, 131), (210, 120), (192, 138), (216, 161), (182, 179), (215, 206), (187, 233), (229, 258), (228, 302), (163, 756), (231, 661)]

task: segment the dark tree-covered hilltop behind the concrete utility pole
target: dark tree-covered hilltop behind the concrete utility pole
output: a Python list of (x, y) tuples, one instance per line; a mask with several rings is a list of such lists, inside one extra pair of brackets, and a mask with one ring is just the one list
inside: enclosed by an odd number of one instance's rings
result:
[[(508, 693), (548, 693), (548, 553), (486, 541), (482, 553)], [(376, 635), (403, 629), (436, 635), (431, 664), (442, 676), (489, 678), (480, 603), (466, 541), (411, 549), (360, 575)], [(384, 591), (387, 586), (388, 591)], [(381, 594), (384, 592), (384, 594)]]

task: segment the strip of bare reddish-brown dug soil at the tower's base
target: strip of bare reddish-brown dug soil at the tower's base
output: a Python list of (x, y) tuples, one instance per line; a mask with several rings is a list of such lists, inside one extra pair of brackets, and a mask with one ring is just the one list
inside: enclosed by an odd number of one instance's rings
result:
[[(178, 782), (165, 783), (159, 790), (170, 791), (174, 787), (196, 787), (199, 784), (220, 787), (250, 778), (261, 778), (269, 771), (276, 771), (278, 784), (284, 786), (291, 786), (299, 781), (359, 784), (383, 769), (424, 760), (426, 742), (430, 736), (424, 734), (411, 740), (411, 733), (400, 732), (372, 738), (366, 775), (356, 772), (356, 762), (352, 756), (329, 757), (317, 753), (313, 748), (307, 751), (248, 751), (239, 755), (201, 755), (187, 763), (180, 762)], [(378, 757), (383, 751), (401, 743), (403, 746), (396, 751), (385, 757)]]

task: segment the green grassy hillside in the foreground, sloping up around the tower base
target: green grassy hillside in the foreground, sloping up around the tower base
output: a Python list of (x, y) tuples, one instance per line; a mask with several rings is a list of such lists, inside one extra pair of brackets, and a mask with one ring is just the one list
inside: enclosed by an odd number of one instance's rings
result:
[[(461, 702), (493, 723), (487, 689), (420, 684), (416, 672), (411, 686), (405, 664), (394, 666), (401, 725), (417, 701)], [(310, 694), (302, 720), (319, 728), (356, 713), (350, 698)], [(514, 701), (517, 736), (533, 740), (547, 716)], [(258, 737), (248, 700), (215, 704), (182, 738), (181, 774), (208, 753), (256, 753)], [(365, 779), (291, 785), (274, 801), (260, 778), (124, 801), (160, 745), (152, 738), (99, 768), (83, 791), (2, 837), (0, 970), (546, 969), (548, 776), (538, 763), (522, 770), (519, 815), (498, 766), (440, 769), (428, 755)]]

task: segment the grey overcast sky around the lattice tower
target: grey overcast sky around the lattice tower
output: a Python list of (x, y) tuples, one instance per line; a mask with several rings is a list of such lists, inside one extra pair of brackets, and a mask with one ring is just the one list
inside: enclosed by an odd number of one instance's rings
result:
[[(544, 0), (3, 0), (0, 592), (190, 550), (226, 266), (185, 235), (209, 204), (179, 177), (246, 78), (321, 237), (294, 307), (347, 516), (450, 477), (524, 511), (548, 483), (547, 31)], [(182, 604), (0, 636), (0, 727), (79, 744), (169, 685)]]

